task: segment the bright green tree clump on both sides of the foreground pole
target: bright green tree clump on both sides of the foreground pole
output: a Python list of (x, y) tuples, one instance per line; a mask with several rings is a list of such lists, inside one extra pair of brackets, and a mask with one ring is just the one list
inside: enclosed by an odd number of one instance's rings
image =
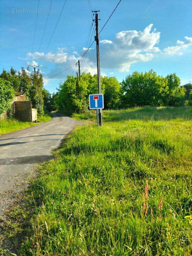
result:
[[(101, 77), (101, 88), (104, 93), (105, 108), (119, 107), (120, 84), (115, 77)], [(79, 90), (78, 90), (79, 85)], [(58, 106), (60, 110), (66, 109), (69, 112), (86, 112), (88, 109), (89, 94), (98, 93), (97, 75), (83, 73), (77, 84), (77, 78), (68, 76), (58, 91)]]

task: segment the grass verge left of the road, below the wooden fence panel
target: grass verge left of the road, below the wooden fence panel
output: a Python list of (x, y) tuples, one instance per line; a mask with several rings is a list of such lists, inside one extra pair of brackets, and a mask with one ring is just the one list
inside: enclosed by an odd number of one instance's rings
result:
[(18, 120), (10, 119), (10, 120), (0, 120), (0, 135), (15, 132), (24, 128), (28, 128), (30, 126), (37, 125), (38, 123), (47, 122), (51, 120), (51, 116), (45, 114), (38, 118), (37, 123), (32, 122), (20, 122)]

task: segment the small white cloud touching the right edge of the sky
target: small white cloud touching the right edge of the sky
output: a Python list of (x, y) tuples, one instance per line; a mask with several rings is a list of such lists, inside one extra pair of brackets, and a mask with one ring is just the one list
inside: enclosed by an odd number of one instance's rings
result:
[(169, 46), (164, 48), (163, 52), (167, 55), (182, 55), (182, 51), (192, 45), (192, 37), (185, 36), (185, 42), (177, 40), (175, 46)]

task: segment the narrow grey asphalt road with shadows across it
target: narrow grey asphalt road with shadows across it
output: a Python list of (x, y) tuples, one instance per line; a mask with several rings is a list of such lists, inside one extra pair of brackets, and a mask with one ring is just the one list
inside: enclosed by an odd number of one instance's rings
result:
[(0, 216), (27, 187), (28, 175), (36, 164), (52, 159), (57, 148), (79, 122), (60, 114), (37, 126), (0, 136)]

